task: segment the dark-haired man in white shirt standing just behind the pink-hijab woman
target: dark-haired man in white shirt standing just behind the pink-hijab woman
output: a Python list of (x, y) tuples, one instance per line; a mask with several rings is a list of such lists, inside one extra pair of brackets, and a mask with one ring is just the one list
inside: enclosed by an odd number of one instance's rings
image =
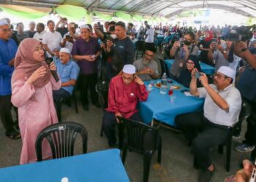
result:
[(42, 45), (47, 51), (47, 55), (49, 58), (54, 56), (53, 50), (60, 46), (60, 42), (62, 39), (61, 33), (54, 30), (54, 22), (53, 20), (48, 20), (47, 22), (49, 31), (47, 31), (44, 36), (42, 36)]

